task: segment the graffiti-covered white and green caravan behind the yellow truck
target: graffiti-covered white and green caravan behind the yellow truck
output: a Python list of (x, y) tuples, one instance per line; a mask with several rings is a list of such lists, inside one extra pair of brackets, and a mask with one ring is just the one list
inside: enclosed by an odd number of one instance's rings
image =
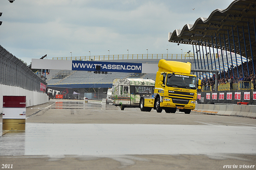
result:
[(138, 108), (141, 96), (154, 94), (155, 81), (151, 79), (116, 78), (113, 80), (113, 105), (124, 108)]

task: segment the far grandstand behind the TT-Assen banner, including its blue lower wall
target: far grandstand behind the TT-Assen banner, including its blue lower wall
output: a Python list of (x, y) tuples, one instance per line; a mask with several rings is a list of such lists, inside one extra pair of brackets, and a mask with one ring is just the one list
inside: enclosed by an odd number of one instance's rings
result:
[[(152, 55), (153, 56), (153, 55)], [(173, 56), (173, 54), (172, 54)], [(178, 56), (178, 55), (176, 55)], [(216, 55), (212, 54), (211, 56), (215, 56), (215, 62), (214, 58), (206, 58), (206, 56), (200, 58), (196, 56), (196, 60), (194, 60), (193, 54), (189, 54), (189, 57), (186, 53), (184, 53), (183, 59), (182, 56), (180, 58), (176, 57), (173, 59), (167, 59), (166, 60), (174, 60), (174, 61), (181, 61), (181, 62), (190, 62), (192, 64), (192, 69), (213, 69), (213, 70), (219, 70), (225, 71), (228, 70), (228, 68), (231, 68), (231, 57), (230, 54), (228, 54), (228, 57), (223, 56), (217, 58)], [(76, 59), (80, 57), (74, 57), (69, 58), (69, 60)], [(94, 57), (95, 58), (95, 57)], [(107, 57), (106, 57), (107, 58)], [(228, 59), (227, 59), (228, 58)], [(232, 54), (232, 58), (235, 58), (234, 54)], [(67, 58), (61, 58), (62, 60), (65, 60)], [(110, 61), (110, 62), (134, 62), (134, 63), (153, 63), (157, 64), (159, 59), (121, 59), (121, 60), (104, 60), (104, 61)], [(208, 59), (208, 62), (207, 62)], [(196, 61), (196, 62), (195, 62)], [(246, 62), (246, 58), (237, 57), (238, 65), (240, 65), (242, 62)], [(216, 64), (215, 64), (216, 63)], [(220, 65), (218, 64), (220, 63)], [(216, 66), (215, 66), (216, 65)], [(236, 62), (233, 61), (233, 66), (236, 66)], [(196, 73), (194, 73), (196, 74)], [(209, 73), (198, 73), (199, 78), (207, 77), (209, 76)], [(210, 76), (213, 76), (212, 73), (210, 73)], [(114, 78), (143, 78), (143, 79), (156, 79), (156, 74), (148, 74), (148, 73), (123, 73), (123, 72), (108, 72), (108, 74), (94, 74), (94, 72), (88, 72), (88, 71), (74, 71), (74, 70), (50, 70), (50, 73), (46, 75), (46, 82), (48, 83), (48, 86), (55, 86), (55, 87), (67, 87), (67, 88), (111, 88), (112, 87), (112, 81)]]

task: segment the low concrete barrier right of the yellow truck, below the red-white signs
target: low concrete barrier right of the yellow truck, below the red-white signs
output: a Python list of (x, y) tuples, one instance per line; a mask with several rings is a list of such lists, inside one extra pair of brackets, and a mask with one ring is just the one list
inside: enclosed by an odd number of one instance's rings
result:
[(256, 118), (256, 105), (196, 104), (192, 112)]

